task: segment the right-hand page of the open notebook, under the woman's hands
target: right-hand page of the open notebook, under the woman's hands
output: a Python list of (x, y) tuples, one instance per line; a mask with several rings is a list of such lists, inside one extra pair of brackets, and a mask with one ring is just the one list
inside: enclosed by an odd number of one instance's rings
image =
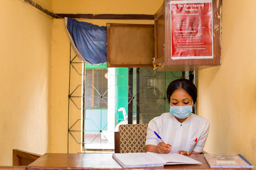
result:
[(173, 164), (202, 164), (195, 159), (191, 159), (187, 156), (178, 154), (178, 153), (168, 153), (168, 154), (160, 154), (147, 152), (151, 155), (154, 155), (157, 159), (161, 159), (164, 161), (165, 165), (173, 165)]

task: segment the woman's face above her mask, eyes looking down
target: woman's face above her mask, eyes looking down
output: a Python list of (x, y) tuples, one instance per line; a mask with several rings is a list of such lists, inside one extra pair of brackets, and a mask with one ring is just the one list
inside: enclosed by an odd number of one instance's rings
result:
[[(189, 106), (192, 105), (192, 97), (184, 89), (176, 89), (171, 95), (171, 106)], [(194, 103), (193, 103), (194, 106)], [(193, 107), (192, 106), (192, 107)]]

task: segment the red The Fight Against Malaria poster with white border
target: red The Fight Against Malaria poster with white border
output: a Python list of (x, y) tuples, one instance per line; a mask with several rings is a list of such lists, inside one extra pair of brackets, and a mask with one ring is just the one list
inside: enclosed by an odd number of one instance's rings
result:
[(172, 60), (212, 59), (212, 0), (170, 1)]

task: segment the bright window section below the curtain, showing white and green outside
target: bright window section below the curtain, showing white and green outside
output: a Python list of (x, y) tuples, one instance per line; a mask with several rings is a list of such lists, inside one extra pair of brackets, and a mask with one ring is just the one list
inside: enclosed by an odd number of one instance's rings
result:
[(85, 65), (84, 150), (114, 150), (114, 131), (120, 123), (127, 124), (127, 71), (103, 64)]

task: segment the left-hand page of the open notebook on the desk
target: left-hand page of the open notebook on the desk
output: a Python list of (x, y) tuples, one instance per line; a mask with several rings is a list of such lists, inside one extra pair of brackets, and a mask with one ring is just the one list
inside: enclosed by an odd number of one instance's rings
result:
[(163, 160), (156, 159), (148, 153), (114, 153), (114, 157), (119, 160), (116, 161), (123, 167), (164, 166)]

